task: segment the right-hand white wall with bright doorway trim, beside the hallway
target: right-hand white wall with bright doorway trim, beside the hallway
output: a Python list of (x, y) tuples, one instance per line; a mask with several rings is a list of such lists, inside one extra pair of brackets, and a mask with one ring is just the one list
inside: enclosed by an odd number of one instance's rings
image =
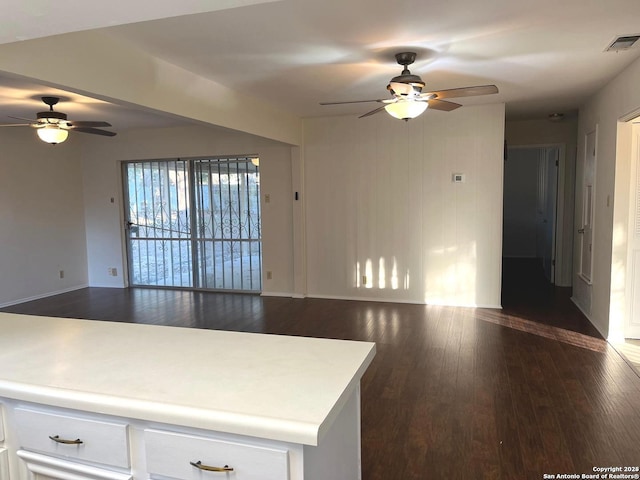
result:
[[(629, 158), (618, 155), (618, 120), (640, 108), (640, 60), (627, 67), (580, 108), (576, 178), (582, 178), (585, 136), (597, 128), (594, 205), (593, 284), (577, 275), (574, 256), (574, 300), (608, 338), (622, 335), (626, 303), (626, 253), (629, 215)], [(628, 143), (628, 142), (625, 142)], [(626, 185), (626, 186), (625, 186)], [(582, 218), (582, 189), (576, 188), (576, 222)], [(576, 223), (576, 228), (580, 225)], [(615, 237), (614, 237), (615, 233)], [(615, 241), (614, 241), (615, 238)], [(579, 255), (579, 236), (574, 250)], [(612, 283), (612, 270), (615, 273)]]

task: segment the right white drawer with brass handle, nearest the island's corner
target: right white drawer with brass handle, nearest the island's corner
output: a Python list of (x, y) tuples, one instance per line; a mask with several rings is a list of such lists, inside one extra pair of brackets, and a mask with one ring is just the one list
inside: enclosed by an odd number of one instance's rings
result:
[[(289, 454), (269, 448), (215, 438), (145, 430), (147, 470), (153, 476), (183, 480), (288, 480)], [(232, 468), (229, 472), (197, 468)]]

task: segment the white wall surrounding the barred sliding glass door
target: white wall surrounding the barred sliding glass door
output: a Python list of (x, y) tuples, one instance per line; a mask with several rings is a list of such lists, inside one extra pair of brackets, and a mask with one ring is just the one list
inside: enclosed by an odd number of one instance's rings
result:
[[(293, 293), (291, 147), (206, 127), (131, 130), (101, 140), (99, 147), (87, 143), (83, 150), (86, 243), (92, 286), (125, 285), (121, 161), (257, 154), (262, 191), (263, 274), (267, 270), (273, 272), (272, 280), (263, 278), (263, 292)], [(270, 202), (264, 203), (267, 194)], [(108, 275), (110, 267), (118, 268), (118, 277)]]

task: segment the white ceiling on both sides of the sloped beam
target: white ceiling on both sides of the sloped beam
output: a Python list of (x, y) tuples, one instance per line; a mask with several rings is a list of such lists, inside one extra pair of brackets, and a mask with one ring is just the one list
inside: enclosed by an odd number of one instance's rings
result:
[[(385, 87), (401, 70), (394, 59), (399, 51), (418, 53), (410, 68), (426, 81), (426, 90), (497, 85), (499, 95), (459, 103), (505, 102), (509, 118), (571, 113), (640, 55), (640, 45), (604, 52), (615, 37), (640, 33), (638, 0), (65, 0), (55, 9), (45, 0), (0, 0), (0, 5), (0, 43), (105, 27), (114, 39), (300, 117), (359, 115), (375, 108), (318, 103), (387, 98)], [(0, 45), (0, 71), (1, 54)], [(70, 100), (57, 109), (77, 120), (107, 120), (120, 128), (184, 122), (5, 76), (0, 77), (0, 123), (11, 122), (5, 115), (33, 117), (44, 109), (39, 96), (52, 93)]]

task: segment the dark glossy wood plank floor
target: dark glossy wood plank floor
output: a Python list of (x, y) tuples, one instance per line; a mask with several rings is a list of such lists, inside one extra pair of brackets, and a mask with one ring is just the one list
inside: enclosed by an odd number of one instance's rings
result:
[(102, 288), (3, 310), (376, 342), (362, 381), (364, 480), (638, 465), (640, 378), (567, 291), (509, 275), (503, 310)]

